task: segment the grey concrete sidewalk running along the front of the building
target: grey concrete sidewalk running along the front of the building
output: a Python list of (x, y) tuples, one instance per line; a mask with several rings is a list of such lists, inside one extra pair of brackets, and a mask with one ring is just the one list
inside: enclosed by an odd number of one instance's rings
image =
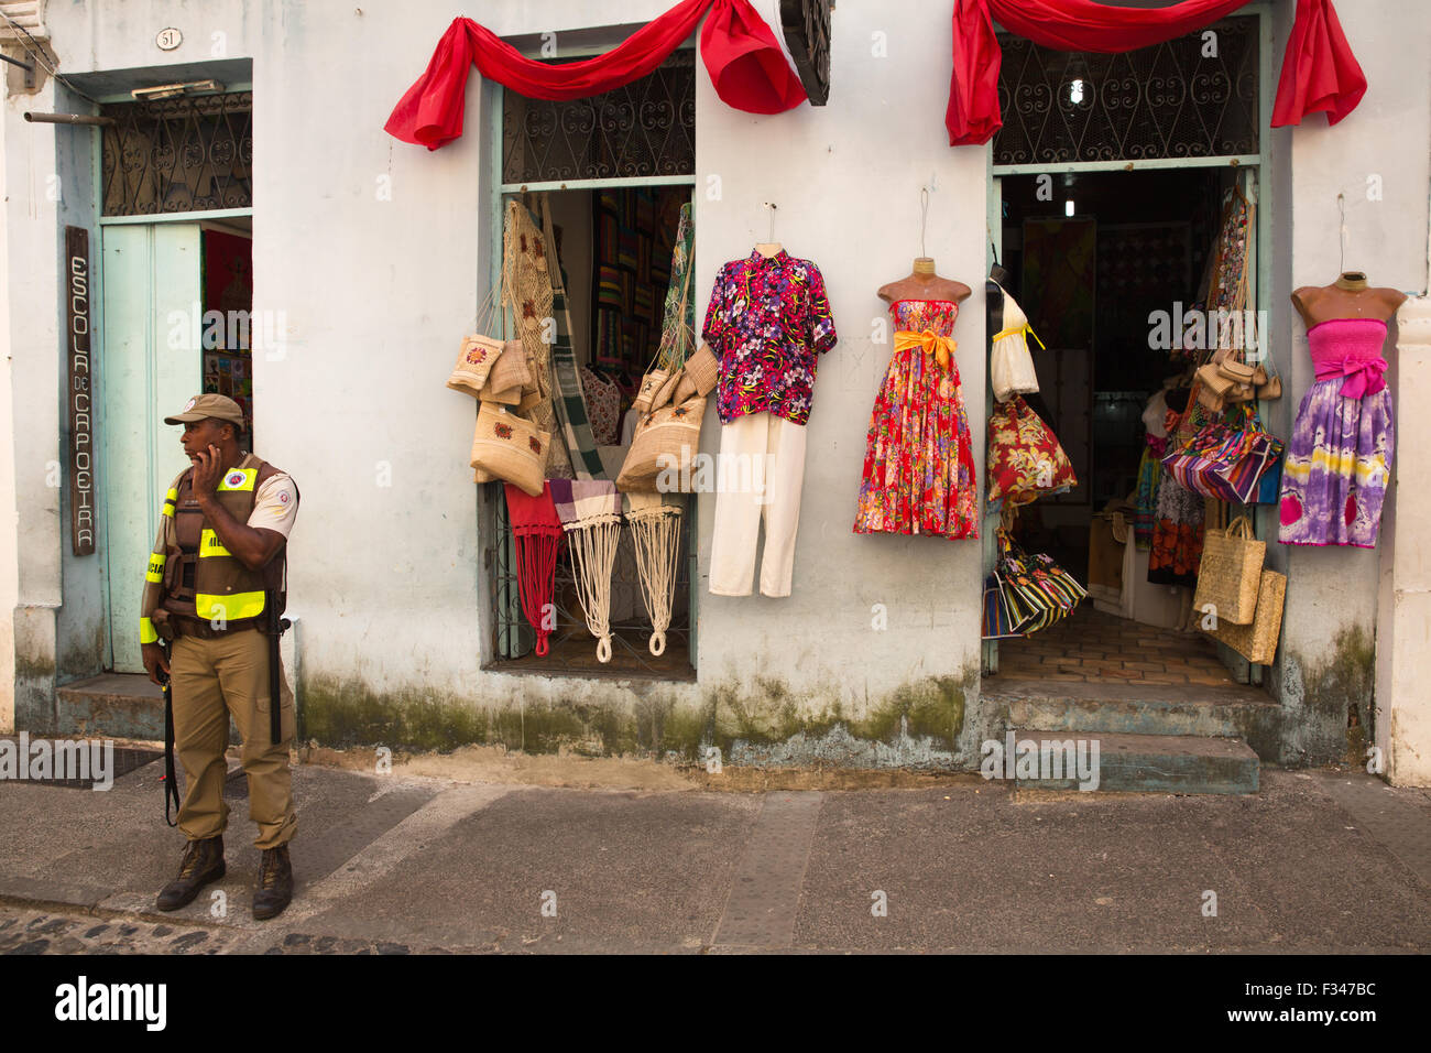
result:
[(564, 789), (302, 765), (296, 893), (268, 923), (249, 914), (242, 779), (228, 877), (153, 910), (183, 847), (162, 772), (109, 792), (0, 782), (0, 951), (1431, 950), (1431, 794), (1359, 772), (1265, 769), (1252, 797), (1171, 797), (977, 776)]

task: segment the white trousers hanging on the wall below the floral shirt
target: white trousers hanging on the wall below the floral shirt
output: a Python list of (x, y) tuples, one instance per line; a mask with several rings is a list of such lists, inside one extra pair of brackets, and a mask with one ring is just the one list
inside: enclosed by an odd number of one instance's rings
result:
[(806, 427), (770, 413), (746, 414), (721, 425), (711, 537), (713, 595), (750, 596), (761, 519), (766, 554), (760, 562), (760, 592), (790, 595), (804, 447)]

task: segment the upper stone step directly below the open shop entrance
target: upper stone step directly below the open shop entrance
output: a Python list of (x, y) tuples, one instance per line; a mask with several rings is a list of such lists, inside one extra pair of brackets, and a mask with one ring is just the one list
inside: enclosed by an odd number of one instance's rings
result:
[[(1261, 689), (1139, 686), (1055, 681), (985, 681), (983, 698), (1003, 706), (1009, 728), (1244, 738), (1275, 748), (1281, 706)], [(1271, 759), (1271, 754), (1268, 755)]]

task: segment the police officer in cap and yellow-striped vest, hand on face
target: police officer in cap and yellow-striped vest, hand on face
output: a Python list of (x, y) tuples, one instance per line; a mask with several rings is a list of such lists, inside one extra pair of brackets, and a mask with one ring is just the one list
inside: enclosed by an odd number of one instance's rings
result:
[[(249, 818), (263, 851), (253, 917), (270, 918), (293, 895), (288, 842), (298, 828), (288, 748), (293, 695), (282, 685), (282, 735), (269, 726), (270, 605), (282, 613), (285, 552), (298, 516), (298, 487), (245, 453), (243, 413), (218, 394), (190, 398), (165, 424), (182, 424), (190, 467), (165, 496), (159, 537), (145, 576), (140, 645), (155, 683), (169, 676), (175, 746), (185, 769), (179, 828), (189, 840), (179, 875), (159, 893), (159, 910), (179, 910), (223, 877), (223, 801), (229, 716), (243, 738)], [(275, 619), (276, 620), (276, 619)], [(166, 658), (159, 640), (170, 640)]]

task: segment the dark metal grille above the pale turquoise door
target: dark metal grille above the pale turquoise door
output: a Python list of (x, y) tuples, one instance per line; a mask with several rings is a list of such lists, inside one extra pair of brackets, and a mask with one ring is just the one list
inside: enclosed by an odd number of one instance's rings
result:
[(253, 93), (103, 106), (106, 216), (253, 205)]

